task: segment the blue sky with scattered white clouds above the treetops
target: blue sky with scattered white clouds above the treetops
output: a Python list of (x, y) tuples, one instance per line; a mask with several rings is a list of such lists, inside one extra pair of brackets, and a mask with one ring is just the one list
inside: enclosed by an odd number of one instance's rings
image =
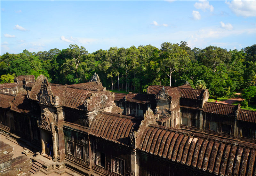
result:
[(255, 2), (1, 0), (1, 55), (180, 41), (240, 50), (256, 44)]

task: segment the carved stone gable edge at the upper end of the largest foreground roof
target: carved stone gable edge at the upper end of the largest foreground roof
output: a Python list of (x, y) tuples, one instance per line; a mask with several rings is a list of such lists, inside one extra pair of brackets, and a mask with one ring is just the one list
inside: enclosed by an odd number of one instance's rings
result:
[(148, 110), (144, 114), (143, 120), (141, 121), (137, 132), (133, 131), (129, 134), (131, 145), (134, 146), (135, 148), (138, 147), (136, 141), (140, 141), (140, 138), (142, 136), (141, 133), (143, 133), (145, 128), (148, 127), (148, 124), (156, 124), (154, 112), (150, 108), (148, 108)]

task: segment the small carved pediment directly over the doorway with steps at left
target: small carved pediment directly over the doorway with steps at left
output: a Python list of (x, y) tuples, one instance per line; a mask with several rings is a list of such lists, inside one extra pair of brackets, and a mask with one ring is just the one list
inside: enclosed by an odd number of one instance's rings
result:
[(43, 128), (44, 130), (55, 132), (55, 121), (49, 109), (43, 109), (43, 111), (41, 112), (41, 117), (37, 121), (37, 125), (38, 127)]

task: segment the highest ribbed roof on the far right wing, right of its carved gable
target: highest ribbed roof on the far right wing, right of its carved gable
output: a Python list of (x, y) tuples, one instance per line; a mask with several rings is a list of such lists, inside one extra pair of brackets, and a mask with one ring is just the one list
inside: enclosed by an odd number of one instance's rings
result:
[(204, 98), (205, 89), (192, 89), (177, 87), (182, 98), (202, 100)]

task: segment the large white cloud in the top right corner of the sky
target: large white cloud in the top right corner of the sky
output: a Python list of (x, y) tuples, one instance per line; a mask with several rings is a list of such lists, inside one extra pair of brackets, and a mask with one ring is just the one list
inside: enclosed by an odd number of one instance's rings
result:
[(254, 17), (256, 14), (256, 1), (226, 1), (228, 7), (236, 14), (236, 16)]

